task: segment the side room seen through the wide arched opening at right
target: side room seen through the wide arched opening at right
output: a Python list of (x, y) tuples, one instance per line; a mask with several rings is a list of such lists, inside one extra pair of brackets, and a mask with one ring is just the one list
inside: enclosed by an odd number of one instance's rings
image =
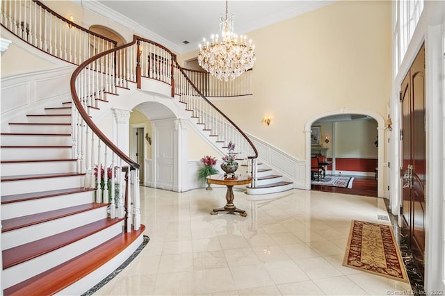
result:
[(316, 120), (311, 133), (311, 189), (377, 197), (377, 127), (372, 117), (361, 114)]

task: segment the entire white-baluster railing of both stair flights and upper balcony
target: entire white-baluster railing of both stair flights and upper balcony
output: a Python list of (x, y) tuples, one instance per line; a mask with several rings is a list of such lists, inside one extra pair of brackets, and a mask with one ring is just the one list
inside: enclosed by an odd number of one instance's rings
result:
[[(249, 160), (248, 172), (254, 176), (254, 181), (256, 180), (258, 153), (254, 145), (243, 131), (204, 95), (205, 93), (209, 97), (232, 97), (250, 94), (251, 71), (232, 83), (216, 81), (205, 73), (183, 69), (177, 63), (176, 55), (161, 44), (134, 36), (129, 44), (116, 47), (113, 40), (77, 26), (35, 0), (2, 1), (1, 24), (38, 49), (70, 63), (80, 64), (71, 81), (72, 98), (76, 107), (73, 108), (72, 115), (72, 142), (73, 156), (78, 160), (78, 170), (86, 172), (87, 175), (86, 187), (97, 188), (97, 184), (108, 181), (106, 176), (94, 174), (96, 165), (127, 166), (127, 174), (133, 174), (132, 182), (138, 184), (136, 179), (139, 165), (99, 130), (88, 114), (88, 107), (97, 108), (97, 99), (106, 100), (107, 92), (115, 93), (118, 87), (127, 88), (129, 82), (136, 82), (140, 88), (143, 77), (170, 85), (171, 96), (179, 98), (186, 110), (191, 111), (191, 117), (196, 118), (216, 142), (223, 143), (223, 146), (227, 146), (230, 141), (236, 143), (237, 158)], [(221, 85), (225, 85), (225, 88)], [(220, 87), (221, 90), (214, 90), (213, 87)], [(236, 87), (239, 90), (235, 90)], [(123, 176), (113, 174), (111, 179), (123, 183)], [(128, 193), (130, 188), (125, 190)], [(99, 190), (97, 192), (99, 193)], [(129, 203), (133, 204), (135, 213), (128, 215), (129, 225), (131, 215), (136, 220), (140, 217), (137, 213), (137, 186), (133, 188), (133, 192), (135, 200)], [(120, 197), (122, 198), (122, 191)], [(128, 209), (130, 204), (125, 202)], [(117, 215), (122, 215), (122, 202)], [(137, 222), (135, 224), (138, 225)]]

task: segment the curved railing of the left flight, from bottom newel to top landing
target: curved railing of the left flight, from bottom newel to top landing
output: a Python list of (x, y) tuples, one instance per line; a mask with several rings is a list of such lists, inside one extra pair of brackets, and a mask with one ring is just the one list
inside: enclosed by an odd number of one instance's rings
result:
[[(72, 142), (77, 170), (86, 173), (86, 188), (96, 188), (96, 202), (111, 202), (111, 218), (125, 217), (127, 232), (140, 228), (140, 165), (99, 129), (88, 110), (98, 108), (99, 101), (106, 101), (106, 94), (115, 93), (116, 88), (127, 88), (134, 78), (135, 50), (136, 38), (97, 54), (74, 70), (70, 85), (76, 107), (72, 108)], [(109, 200), (102, 200), (101, 187)]]

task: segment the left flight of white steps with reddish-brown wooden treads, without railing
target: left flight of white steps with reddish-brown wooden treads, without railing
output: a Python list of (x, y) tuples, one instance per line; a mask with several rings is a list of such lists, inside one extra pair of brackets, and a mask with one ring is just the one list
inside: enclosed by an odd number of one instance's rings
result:
[(93, 202), (95, 188), (83, 186), (71, 105), (29, 114), (1, 133), (4, 295), (79, 295), (142, 243), (145, 227), (124, 233), (124, 218), (111, 218), (110, 204)]

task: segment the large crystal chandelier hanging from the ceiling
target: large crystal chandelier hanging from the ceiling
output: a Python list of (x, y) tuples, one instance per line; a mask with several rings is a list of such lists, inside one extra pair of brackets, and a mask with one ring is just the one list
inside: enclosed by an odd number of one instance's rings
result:
[(256, 59), (252, 40), (247, 42), (245, 35), (234, 33), (234, 16), (227, 14), (227, 7), (226, 0), (225, 15), (220, 17), (221, 40), (218, 35), (211, 35), (211, 43), (204, 38), (197, 56), (197, 63), (203, 69), (225, 81), (234, 80), (252, 68)]

